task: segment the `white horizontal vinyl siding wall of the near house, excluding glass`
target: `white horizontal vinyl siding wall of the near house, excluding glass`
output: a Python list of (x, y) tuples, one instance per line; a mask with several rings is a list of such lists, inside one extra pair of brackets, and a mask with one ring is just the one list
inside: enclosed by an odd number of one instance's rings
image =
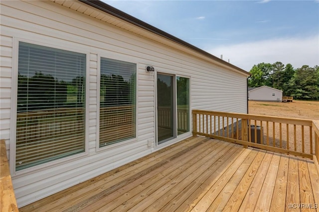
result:
[[(71, 1), (69, 1), (71, 2)], [(18, 207), (91, 179), (190, 136), (163, 146), (155, 142), (155, 73), (190, 77), (191, 109), (247, 112), (246, 76), (207, 60), (146, 39), (51, 1), (1, 1), (0, 139), (14, 163), (18, 41), (87, 54), (86, 154), (64, 158), (22, 172), (11, 169)], [(85, 4), (83, 4), (85, 5)], [(137, 64), (137, 139), (97, 151), (98, 58)], [(192, 124), (190, 123), (190, 126)]]

